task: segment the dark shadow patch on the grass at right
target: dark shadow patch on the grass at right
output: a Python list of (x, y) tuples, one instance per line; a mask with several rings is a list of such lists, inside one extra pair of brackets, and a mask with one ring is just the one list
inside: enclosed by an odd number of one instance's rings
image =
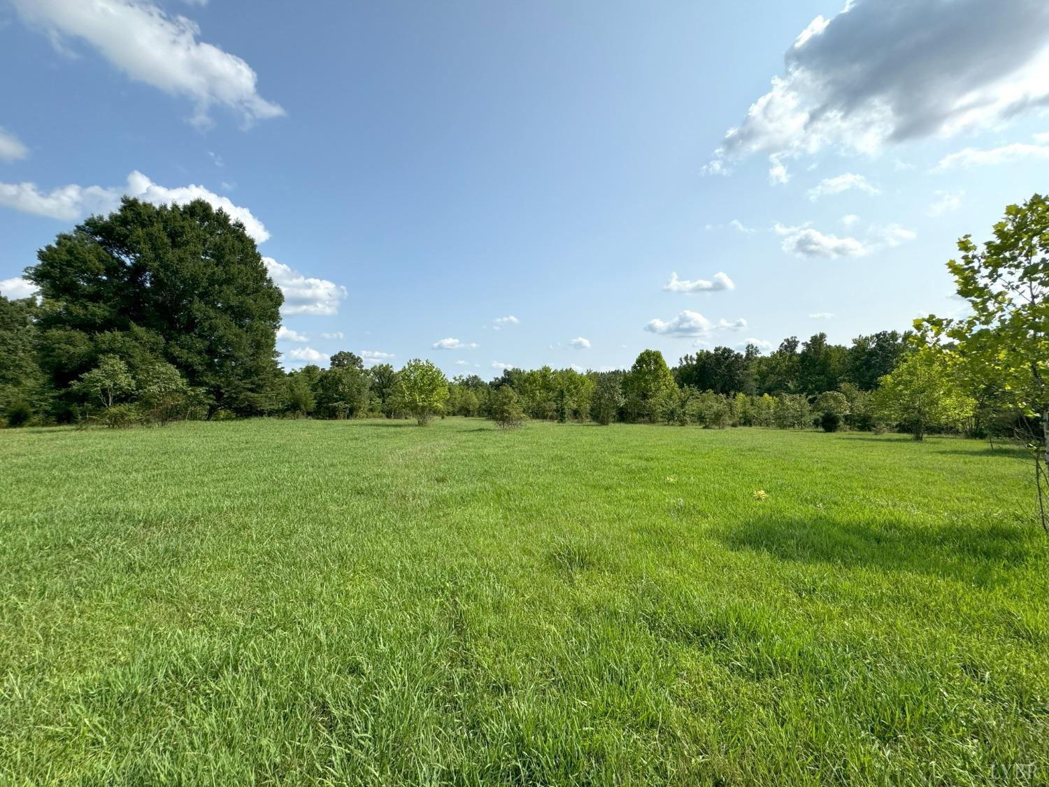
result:
[(832, 563), (949, 576), (986, 584), (998, 569), (1041, 556), (1022, 524), (926, 527), (891, 519), (764, 517), (733, 527), (719, 539), (732, 550), (767, 552), (782, 560)]

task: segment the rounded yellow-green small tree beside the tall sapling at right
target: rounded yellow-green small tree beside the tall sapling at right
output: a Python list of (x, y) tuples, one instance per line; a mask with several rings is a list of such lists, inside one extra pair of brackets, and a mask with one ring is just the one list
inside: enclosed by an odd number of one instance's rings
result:
[(932, 426), (957, 425), (972, 412), (972, 400), (955, 383), (949, 357), (936, 347), (909, 353), (874, 392), (875, 410), (922, 440)]

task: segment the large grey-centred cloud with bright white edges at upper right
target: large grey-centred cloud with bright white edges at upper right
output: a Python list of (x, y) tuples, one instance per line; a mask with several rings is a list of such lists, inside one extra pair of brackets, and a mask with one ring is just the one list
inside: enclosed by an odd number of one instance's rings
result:
[(1049, 3), (848, 0), (788, 49), (785, 73), (729, 129), (705, 171), (823, 149), (875, 153), (1049, 106)]

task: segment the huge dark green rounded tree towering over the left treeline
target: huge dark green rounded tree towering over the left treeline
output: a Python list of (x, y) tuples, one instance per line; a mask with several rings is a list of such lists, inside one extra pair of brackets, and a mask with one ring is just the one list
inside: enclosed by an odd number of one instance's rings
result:
[(279, 379), (283, 296), (243, 225), (204, 200), (125, 198), (41, 249), (41, 358), (66, 388), (102, 355), (171, 363), (211, 409), (266, 410)]

